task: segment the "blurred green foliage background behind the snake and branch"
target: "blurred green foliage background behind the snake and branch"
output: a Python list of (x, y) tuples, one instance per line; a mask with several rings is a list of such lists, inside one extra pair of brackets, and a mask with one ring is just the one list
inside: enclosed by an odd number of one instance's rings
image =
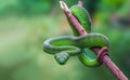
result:
[[(92, 31), (109, 38), (109, 57), (130, 78), (130, 0), (82, 1)], [(116, 80), (105, 65), (89, 68), (74, 56), (61, 66), (42, 51), (44, 40), (63, 35), (73, 32), (58, 0), (0, 0), (0, 80)]]

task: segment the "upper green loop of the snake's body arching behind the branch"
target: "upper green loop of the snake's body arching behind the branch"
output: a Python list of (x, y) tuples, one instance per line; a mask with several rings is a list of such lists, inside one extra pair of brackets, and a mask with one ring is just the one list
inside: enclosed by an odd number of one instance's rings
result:
[[(90, 18), (90, 15), (89, 15), (88, 11), (82, 6), (73, 5), (70, 8), (70, 12), (79, 21), (79, 23), (82, 25), (84, 30), (87, 30), (87, 32), (91, 32), (91, 18)], [(76, 28), (74, 27), (74, 25), (70, 22), (68, 22), (68, 23), (69, 23), (69, 25), (70, 25), (70, 27), (74, 31), (74, 35), (79, 36), (79, 34), (76, 30)]]

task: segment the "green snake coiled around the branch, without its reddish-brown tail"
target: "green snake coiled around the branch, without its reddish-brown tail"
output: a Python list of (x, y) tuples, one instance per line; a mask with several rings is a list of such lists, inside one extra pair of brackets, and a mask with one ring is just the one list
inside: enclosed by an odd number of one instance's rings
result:
[(87, 49), (94, 46), (108, 46), (108, 38), (102, 34), (91, 32), (91, 18), (83, 6), (76, 4), (69, 10), (81, 24), (83, 29), (89, 34), (80, 36), (75, 26), (68, 19), (74, 36), (50, 38), (43, 42), (43, 51), (54, 55), (55, 59), (61, 65), (64, 65), (69, 56), (78, 55), (80, 62), (86, 66), (99, 67), (101, 63), (98, 62), (98, 57), (90, 57)]

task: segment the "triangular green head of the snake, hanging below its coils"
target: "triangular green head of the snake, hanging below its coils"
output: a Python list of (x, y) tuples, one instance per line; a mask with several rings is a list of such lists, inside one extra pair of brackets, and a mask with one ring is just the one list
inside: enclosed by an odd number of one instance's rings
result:
[(69, 54), (66, 52), (60, 52), (54, 55), (54, 58), (60, 65), (64, 65), (69, 58)]

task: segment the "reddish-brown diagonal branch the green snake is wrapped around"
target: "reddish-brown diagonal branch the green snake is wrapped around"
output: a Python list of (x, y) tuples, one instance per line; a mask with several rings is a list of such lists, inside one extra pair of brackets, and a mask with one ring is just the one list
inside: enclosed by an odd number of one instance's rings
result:
[[(78, 19), (72, 14), (66, 3), (64, 1), (60, 1), (60, 4), (66, 17), (75, 26), (76, 30), (80, 35), (87, 35), (88, 32), (82, 28)], [(83, 3), (81, 1), (78, 2), (78, 5), (82, 6), (82, 4)], [(92, 48), (91, 50), (94, 51), (95, 54), (98, 55), (100, 48)], [(113, 61), (107, 55), (104, 55), (102, 61), (118, 80), (128, 80), (128, 78), (122, 74), (122, 71), (113, 63)]]

